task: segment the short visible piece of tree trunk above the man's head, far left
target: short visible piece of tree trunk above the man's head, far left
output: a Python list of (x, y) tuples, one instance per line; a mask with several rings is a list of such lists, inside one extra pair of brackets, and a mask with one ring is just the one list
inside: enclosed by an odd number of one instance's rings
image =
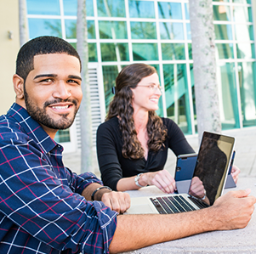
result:
[(20, 47), (28, 41), (26, 22), (26, 0), (19, 0)]

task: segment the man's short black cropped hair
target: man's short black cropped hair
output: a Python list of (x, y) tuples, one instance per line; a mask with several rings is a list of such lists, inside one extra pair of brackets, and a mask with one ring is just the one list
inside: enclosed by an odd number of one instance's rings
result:
[(77, 50), (70, 43), (59, 37), (37, 37), (26, 42), (20, 48), (17, 56), (16, 74), (21, 76), (24, 82), (26, 82), (26, 77), (30, 71), (34, 69), (34, 56), (37, 54), (69, 54), (77, 57), (81, 66), (81, 59)]

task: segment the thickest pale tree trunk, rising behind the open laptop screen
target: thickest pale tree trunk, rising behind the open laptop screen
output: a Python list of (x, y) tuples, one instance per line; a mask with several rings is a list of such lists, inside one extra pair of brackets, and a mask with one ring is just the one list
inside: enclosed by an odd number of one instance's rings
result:
[(190, 0), (192, 55), (199, 141), (203, 131), (221, 132), (212, 0)]

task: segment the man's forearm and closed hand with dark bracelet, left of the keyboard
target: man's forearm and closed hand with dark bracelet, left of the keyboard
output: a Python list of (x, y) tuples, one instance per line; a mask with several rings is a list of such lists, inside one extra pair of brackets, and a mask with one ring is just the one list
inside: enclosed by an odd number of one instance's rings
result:
[[(100, 183), (91, 183), (82, 191), (82, 196), (86, 200), (92, 200), (92, 194), (97, 188), (102, 187)], [(128, 193), (111, 191), (110, 189), (99, 189), (94, 193), (94, 200), (101, 200), (105, 206), (111, 207), (111, 210), (123, 213), (130, 207), (130, 196)]]

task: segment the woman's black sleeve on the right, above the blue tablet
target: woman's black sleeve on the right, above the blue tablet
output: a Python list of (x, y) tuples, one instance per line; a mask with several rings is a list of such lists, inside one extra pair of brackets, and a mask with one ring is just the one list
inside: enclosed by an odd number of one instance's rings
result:
[(174, 154), (178, 156), (195, 153), (179, 126), (168, 118), (164, 118), (163, 121), (168, 127), (168, 147), (174, 151)]

